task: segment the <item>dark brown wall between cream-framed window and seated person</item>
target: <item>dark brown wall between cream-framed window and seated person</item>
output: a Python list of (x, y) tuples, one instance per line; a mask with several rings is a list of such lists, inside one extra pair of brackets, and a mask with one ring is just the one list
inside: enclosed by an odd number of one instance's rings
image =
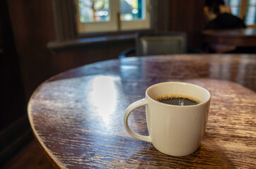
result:
[(190, 49), (202, 49), (201, 32), (205, 24), (204, 1), (158, 1), (156, 31), (186, 32), (188, 47)]

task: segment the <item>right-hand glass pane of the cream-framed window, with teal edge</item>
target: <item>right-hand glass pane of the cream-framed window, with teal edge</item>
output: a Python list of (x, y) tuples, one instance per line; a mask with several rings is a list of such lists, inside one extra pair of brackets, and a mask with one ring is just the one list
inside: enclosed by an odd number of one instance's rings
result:
[(141, 20), (144, 19), (143, 0), (120, 0), (121, 20)]

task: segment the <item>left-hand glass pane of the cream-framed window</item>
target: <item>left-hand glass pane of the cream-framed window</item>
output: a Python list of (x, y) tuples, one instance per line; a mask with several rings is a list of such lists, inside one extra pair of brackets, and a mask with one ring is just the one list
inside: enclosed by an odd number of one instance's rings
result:
[(106, 22), (110, 20), (109, 0), (78, 0), (81, 23)]

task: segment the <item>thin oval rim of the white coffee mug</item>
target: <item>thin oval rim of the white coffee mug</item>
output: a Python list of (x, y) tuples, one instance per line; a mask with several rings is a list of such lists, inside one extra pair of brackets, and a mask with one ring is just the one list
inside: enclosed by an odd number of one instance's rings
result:
[[(209, 94), (209, 98), (206, 99), (206, 101), (203, 101), (202, 103), (199, 103), (199, 104), (196, 104), (196, 105), (180, 106), (180, 105), (173, 105), (173, 104), (164, 104), (164, 103), (161, 103), (160, 101), (156, 101), (155, 99), (151, 98), (151, 96), (149, 96), (149, 94), (148, 94), (149, 89), (151, 89), (152, 87), (156, 87), (158, 85), (161, 85), (161, 84), (166, 84), (166, 83), (170, 83), (170, 84), (174, 84), (174, 83), (176, 83), (176, 84), (189, 84), (189, 85), (192, 85), (192, 86), (195, 86), (195, 87), (199, 87), (199, 88), (203, 89), (204, 91), (206, 91), (207, 94)], [(148, 87), (146, 89), (146, 97), (149, 98), (151, 101), (153, 101), (157, 104), (161, 104), (163, 106), (171, 106), (171, 107), (174, 106), (174, 107), (185, 108), (185, 107), (202, 106), (204, 104), (207, 104), (211, 100), (211, 93), (207, 89), (205, 89), (204, 87), (201, 87), (197, 84), (192, 84), (190, 82), (178, 82), (178, 81), (173, 82), (173, 81), (171, 81), (171, 82), (160, 82), (160, 83), (156, 83), (156, 84), (151, 85), (150, 87)]]

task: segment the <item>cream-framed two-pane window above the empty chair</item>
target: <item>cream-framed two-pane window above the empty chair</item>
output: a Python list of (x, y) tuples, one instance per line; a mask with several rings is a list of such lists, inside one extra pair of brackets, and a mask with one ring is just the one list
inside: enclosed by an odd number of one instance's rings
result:
[(149, 0), (76, 0), (78, 33), (150, 28)]

